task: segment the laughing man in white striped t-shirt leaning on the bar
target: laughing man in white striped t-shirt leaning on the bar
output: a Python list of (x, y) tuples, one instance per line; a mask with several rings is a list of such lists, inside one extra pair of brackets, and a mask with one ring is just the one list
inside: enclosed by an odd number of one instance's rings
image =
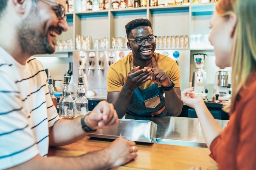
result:
[(32, 55), (55, 51), (56, 38), (68, 29), (63, 5), (0, 0), (0, 169), (109, 169), (137, 157), (135, 142), (123, 138), (79, 157), (47, 157), (49, 145), (68, 145), (118, 121), (107, 102), (87, 116), (59, 118), (45, 70)]

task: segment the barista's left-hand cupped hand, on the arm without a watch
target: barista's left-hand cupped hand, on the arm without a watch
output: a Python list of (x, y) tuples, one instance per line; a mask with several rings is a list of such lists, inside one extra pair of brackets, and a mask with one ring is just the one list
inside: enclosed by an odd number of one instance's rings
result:
[(150, 69), (139, 70), (139, 68), (140, 66), (133, 68), (128, 73), (124, 87), (133, 91), (150, 79), (150, 74), (152, 74), (152, 71)]

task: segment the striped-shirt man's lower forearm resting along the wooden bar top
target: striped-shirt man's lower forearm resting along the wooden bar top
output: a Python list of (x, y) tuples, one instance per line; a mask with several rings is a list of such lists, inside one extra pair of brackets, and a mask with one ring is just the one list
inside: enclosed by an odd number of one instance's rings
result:
[(43, 158), (40, 155), (28, 160), (27, 162), (18, 166), (12, 167), (8, 170), (96, 170), (96, 169), (109, 169), (112, 167), (109, 154), (104, 150), (89, 152), (85, 155), (77, 157), (56, 157), (49, 156)]

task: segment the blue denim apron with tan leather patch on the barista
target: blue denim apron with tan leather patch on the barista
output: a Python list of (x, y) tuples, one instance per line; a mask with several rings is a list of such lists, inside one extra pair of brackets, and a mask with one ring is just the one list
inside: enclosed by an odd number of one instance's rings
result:
[[(154, 56), (152, 65), (153, 68), (157, 68)], [(133, 69), (133, 57), (130, 62), (130, 69)], [(163, 97), (161, 85), (154, 83), (146, 89), (136, 88), (126, 113), (134, 116), (169, 116), (165, 109), (165, 97)]]

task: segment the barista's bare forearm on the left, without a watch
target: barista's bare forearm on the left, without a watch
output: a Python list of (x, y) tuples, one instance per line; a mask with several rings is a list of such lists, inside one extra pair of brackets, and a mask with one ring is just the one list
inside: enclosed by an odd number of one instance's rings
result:
[(118, 97), (112, 102), (119, 119), (123, 118), (126, 114), (132, 93), (132, 90), (124, 86), (120, 91)]

